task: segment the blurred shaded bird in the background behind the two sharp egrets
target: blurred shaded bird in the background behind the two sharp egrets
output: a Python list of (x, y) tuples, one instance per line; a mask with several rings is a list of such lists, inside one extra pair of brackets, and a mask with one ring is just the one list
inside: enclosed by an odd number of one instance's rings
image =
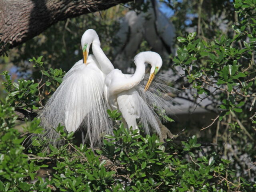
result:
[(152, 51), (160, 54), (164, 63), (170, 63), (169, 55), (175, 55), (176, 30), (159, 10), (156, 0), (149, 1), (147, 12), (137, 14), (130, 10), (119, 22), (120, 28), (114, 36), (118, 41), (114, 46), (114, 66), (127, 72), (143, 40), (148, 42)]

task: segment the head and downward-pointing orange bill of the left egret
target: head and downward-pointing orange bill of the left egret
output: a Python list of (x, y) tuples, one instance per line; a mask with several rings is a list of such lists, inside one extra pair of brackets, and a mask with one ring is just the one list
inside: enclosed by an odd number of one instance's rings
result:
[(82, 39), (81, 39), (81, 45), (83, 50), (83, 63), (86, 64), (89, 49), (92, 43), (98, 43), (100, 44), (100, 39), (98, 34), (93, 29), (88, 29), (84, 32)]

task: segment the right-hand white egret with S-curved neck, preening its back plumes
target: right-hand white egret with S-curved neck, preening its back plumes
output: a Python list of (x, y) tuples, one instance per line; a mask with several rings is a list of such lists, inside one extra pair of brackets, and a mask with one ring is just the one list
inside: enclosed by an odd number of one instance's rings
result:
[[(160, 128), (158, 124), (158, 117), (154, 112), (152, 105), (156, 101), (161, 101), (161, 97), (158, 94), (152, 96), (152, 92), (149, 92), (148, 98), (145, 98), (146, 90), (150, 87), (155, 75), (162, 67), (162, 58), (156, 52), (141, 52), (134, 58), (136, 65), (136, 71), (133, 75), (123, 74), (120, 70), (112, 70), (105, 79), (105, 98), (108, 102), (109, 108), (112, 110), (119, 110), (122, 113), (124, 124), (130, 128), (138, 129), (136, 120), (140, 118), (143, 128), (146, 133), (149, 134), (150, 128), (155, 130), (159, 135)], [(143, 81), (145, 75), (145, 63), (151, 65), (150, 76), (145, 86), (144, 91), (141, 91), (140, 82)], [(161, 87), (159, 87), (161, 89)], [(162, 91), (163, 89), (159, 90)], [(151, 104), (146, 101), (152, 102)], [(165, 103), (159, 103), (160, 107), (168, 108), (164, 106)]]

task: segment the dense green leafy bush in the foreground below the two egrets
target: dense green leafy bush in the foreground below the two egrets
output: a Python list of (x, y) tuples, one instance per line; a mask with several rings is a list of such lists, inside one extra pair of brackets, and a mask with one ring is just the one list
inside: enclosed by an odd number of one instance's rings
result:
[[(72, 144), (73, 132), (56, 131), (66, 141), (59, 149), (41, 151), (33, 140), (24, 154), (24, 135), (40, 132), (38, 120), (26, 126), (25, 134), (14, 128), (14, 108), (10, 98), (1, 101), (0, 190), (1, 191), (255, 191), (256, 184), (237, 178), (231, 163), (215, 152), (205, 155), (193, 136), (182, 146), (168, 141), (164, 147), (157, 136), (136, 134), (120, 127), (106, 135), (104, 146), (96, 150)], [(109, 112), (117, 118), (116, 112)], [(10, 118), (11, 117), (11, 118)], [(164, 151), (165, 148), (165, 151)], [(204, 155), (200, 154), (203, 152)], [(53, 173), (31, 184), (36, 172), (52, 166)]]

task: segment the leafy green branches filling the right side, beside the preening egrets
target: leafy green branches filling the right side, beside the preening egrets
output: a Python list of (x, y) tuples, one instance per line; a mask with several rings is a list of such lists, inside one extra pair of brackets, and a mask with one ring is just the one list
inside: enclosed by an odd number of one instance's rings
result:
[[(245, 165), (240, 156), (246, 154), (252, 162), (256, 158), (256, 1), (236, 0), (234, 4), (238, 20), (232, 25), (232, 38), (219, 36), (207, 41), (196, 32), (178, 37), (181, 43), (178, 56), (173, 59), (176, 66), (185, 71), (185, 89), (193, 91), (188, 98), (198, 105), (207, 99), (211, 103), (206, 109), (216, 114), (216, 143), (219, 153), (231, 156), (238, 172), (255, 177), (255, 170), (243, 172)], [(208, 128), (206, 126), (201, 130)], [(211, 131), (208, 132), (211, 134)], [(218, 138), (218, 135), (222, 135)], [(230, 144), (230, 154), (221, 145)], [(238, 154), (234, 151), (238, 149)]]

